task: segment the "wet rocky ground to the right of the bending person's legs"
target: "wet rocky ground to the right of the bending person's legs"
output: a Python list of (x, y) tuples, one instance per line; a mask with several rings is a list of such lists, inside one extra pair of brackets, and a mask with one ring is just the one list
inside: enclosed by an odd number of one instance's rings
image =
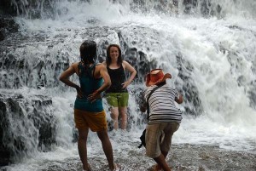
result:
[(256, 151), (227, 151), (218, 146), (175, 145), (173, 170), (256, 170)]

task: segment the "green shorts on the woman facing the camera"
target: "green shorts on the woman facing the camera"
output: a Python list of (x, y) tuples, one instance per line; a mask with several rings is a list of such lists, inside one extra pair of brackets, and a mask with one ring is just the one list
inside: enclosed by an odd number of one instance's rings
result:
[(128, 93), (108, 93), (106, 94), (108, 105), (111, 107), (126, 107), (128, 105)]

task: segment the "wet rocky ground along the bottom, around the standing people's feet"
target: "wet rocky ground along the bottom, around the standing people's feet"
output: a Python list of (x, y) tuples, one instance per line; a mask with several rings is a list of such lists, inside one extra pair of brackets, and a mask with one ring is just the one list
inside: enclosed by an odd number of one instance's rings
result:
[[(116, 152), (115, 152), (116, 154)], [(151, 171), (154, 162), (141, 151), (129, 151), (129, 157), (121, 153), (115, 156), (123, 171)], [(102, 155), (101, 155), (102, 156)], [(89, 157), (93, 171), (108, 170), (105, 158)], [(256, 151), (227, 151), (211, 145), (172, 145), (167, 159), (173, 171), (253, 171), (256, 170)], [(79, 158), (63, 162), (47, 163), (42, 171), (82, 170)]]

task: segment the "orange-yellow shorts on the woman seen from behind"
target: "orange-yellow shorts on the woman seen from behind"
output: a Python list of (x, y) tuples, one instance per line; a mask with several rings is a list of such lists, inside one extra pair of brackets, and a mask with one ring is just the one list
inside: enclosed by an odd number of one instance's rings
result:
[(101, 112), (90, 112), (74, 109), (74, 122), (76, 128), (90, 128), (93, 132), (108, 129), (104, 110)]

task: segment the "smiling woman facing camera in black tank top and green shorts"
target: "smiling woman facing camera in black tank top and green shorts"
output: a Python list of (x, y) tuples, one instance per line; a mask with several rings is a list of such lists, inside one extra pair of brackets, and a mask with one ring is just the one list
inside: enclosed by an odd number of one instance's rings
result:
[[(127, 105), (129, 94), (127, 86), (137, 74), (137, 71), (125, 60), (122, 59), (121, 49), (117, 44), (111, 44), (107, 49), (107, 59), (103, 64), (108, 69), (112, 85), (106, 90), (108, 105), (110, 105), (113, 128), (119, 128), (119, 112), (121, 116), (121, 129), (127, 127)], [(125, 80), (125, 71), (129, 71), (131, 76)]]

